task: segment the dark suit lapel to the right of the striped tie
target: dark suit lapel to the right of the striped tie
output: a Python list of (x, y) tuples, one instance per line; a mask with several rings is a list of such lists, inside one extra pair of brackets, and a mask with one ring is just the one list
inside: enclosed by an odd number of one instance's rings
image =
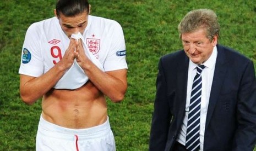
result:
[(221, 47), (220, 45), (217, 45), (217, 52), (218, 52), (218, 54), (217, 54), (217, 59), (216, 59), (213, 84), (211, 86), (211, 94), (210, 94), (210, 99), (209, 99), (208, 112), (207, 112), (207, 116), (206, 116), (205, 129), (207, 129), (207, 127), (210, 123), (216, 102), (220, 95), (222, 84), (225, 79), (225, 74), (227, 71), (227, 66), (225, 66), (227, 59), (225, 56), (224, 48)]

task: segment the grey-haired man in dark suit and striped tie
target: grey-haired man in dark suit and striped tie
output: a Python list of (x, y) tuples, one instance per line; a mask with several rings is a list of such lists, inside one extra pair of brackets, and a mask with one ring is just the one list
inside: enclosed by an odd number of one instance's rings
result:
[(253, 62), (217, 44), (212, 10), (190, 11), (178, 30), (184, 50), (159, 61), (149, 150), (253, 150)]

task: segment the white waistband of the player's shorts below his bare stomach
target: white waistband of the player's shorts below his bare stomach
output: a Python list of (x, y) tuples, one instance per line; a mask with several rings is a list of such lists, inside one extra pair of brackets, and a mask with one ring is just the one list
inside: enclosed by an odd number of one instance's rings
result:
[(75, 135), (79, 136), (80, 139), (88, 140), (108, 135), (110, 131), (108, 117), (105, 123), (88, 129), (68, 129), (46, 121), (41, 115), (37, 132), (41, 135), (64, 140), (73, 140)]

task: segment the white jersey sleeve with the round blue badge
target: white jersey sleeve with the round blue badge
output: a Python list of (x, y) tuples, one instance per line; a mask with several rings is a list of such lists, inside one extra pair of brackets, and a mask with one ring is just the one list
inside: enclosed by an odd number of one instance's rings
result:
[(43, 74), (43, 57), (41, 56), (41, 33), (38, 23), (32, 24), (25, 36), (19, 74), (39, 77)]

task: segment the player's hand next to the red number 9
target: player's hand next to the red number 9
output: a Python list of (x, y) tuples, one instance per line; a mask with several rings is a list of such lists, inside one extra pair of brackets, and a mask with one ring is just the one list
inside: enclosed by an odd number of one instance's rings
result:
[(74, 63), (76, 46), (77, 46), (76, 40), (73, 38), (70, 38), (68, 49), (66, 50), (64, 56), (62, 57), (62, 60), (59, 61), (59, 63), (65, 69), (69, 69)]

